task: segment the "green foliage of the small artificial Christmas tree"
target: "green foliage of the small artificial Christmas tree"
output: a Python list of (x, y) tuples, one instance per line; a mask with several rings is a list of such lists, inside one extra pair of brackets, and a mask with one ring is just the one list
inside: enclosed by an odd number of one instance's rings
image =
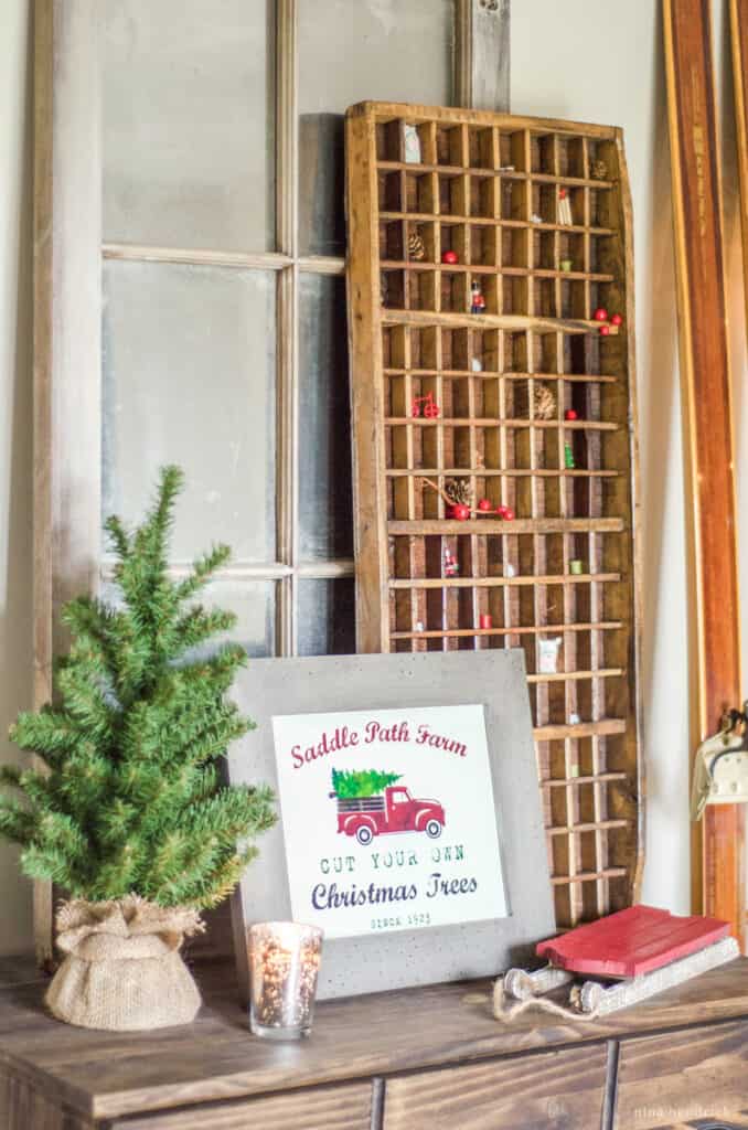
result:
[(168, 576), (181, 487), (179, 468), (166, 467), (139, 529), (108, 519), (122, 602), (79, 597), (64, 607), (72, 642), (55, 669), (54, 705), (21, 713), (10, 730), (45, 771), (0, 771), (21, 794), (0, 798), (0, 834), (21, 845), (26, 875), (72, 896), (66, 928), (80, 930), (88, 907), (94, 933), (103, 915), (110, 927), (134, 919), (141, 933), (150, 921), (165, 936), (176, 909), (181, 938), (229, 894), (256, 853), (253, 837), (276, 820), (268, 788), (220, 780), (229, 742), (253, 727), (226, 697), (246, 654), (235, 644), (205, 653), (235, 617), (194, 599), (228, 548), (211, 549), (184, 580)]

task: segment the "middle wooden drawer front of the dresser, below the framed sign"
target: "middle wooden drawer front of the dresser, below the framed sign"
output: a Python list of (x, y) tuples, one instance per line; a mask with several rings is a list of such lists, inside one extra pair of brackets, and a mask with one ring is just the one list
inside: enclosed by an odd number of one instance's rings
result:
[(388, 1080), (384, 1130), (600, 1130), (606, 1046)]

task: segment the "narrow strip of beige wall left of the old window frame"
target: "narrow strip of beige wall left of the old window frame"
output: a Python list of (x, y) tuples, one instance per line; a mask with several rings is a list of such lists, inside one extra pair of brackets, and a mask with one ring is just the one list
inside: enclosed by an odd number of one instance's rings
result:
[[(0, 760), (32, 680), (32, 263), (28, 0), (0, 2)], [(29, 884), (0, 843), (0, 954), (32, 946)]]

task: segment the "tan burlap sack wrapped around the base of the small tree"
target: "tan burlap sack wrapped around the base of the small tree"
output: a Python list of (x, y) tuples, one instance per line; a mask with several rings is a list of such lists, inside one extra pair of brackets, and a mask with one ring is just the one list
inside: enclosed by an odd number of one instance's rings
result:
[(84, 1028), (138, 1032), (189, 1024), (200, 993), (180, 955), (205, 929), (195, 910), (163, 907), (138, 895), (66, 903), (56, 916), (66, 958), (46, 993), (59, 1020)]

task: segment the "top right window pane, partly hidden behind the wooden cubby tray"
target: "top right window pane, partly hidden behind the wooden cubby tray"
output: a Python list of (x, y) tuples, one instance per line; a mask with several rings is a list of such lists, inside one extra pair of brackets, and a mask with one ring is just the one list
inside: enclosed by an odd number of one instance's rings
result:
[(450, 102), (453, 16), (453, 0), (298, 0), (303, 254), (345, 249), (348, 106)]

